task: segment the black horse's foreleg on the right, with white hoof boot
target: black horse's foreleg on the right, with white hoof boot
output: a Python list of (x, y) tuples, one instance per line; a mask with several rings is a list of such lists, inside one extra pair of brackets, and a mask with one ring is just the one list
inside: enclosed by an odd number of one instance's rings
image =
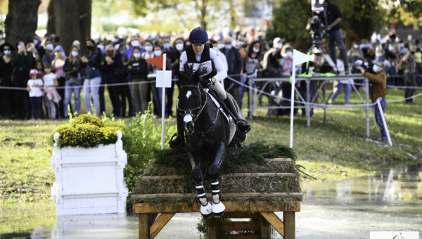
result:
[(220, 142), (220, 145), (215, 154), (215, 160), (210, 166), (210, 179), (211, 179), (211, 188), (212, 188), (212, 213), (215, 217), (222, 217), (226, 207), (223, 205), (221, 200), (221, 193), (219, 190), (219, 181), (218, 181), (218, 170), (222, 165), (222, 162), (226, 157), (226, 146), (223, 142)]

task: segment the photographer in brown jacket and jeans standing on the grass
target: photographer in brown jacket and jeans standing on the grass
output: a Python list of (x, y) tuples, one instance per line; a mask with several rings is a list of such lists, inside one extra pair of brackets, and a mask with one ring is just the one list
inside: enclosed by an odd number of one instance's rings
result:
[[(384, 73), (384, 64), (381, 61), (377, 61), (372, 65), (372, 68), (357, 67), (357, 69), (362, 72), (362, 74), (369, 79), (372, 83), (372, 102), (376, 102), (378, 98), (381, 98), (380, 104), (383, 112), (385, 112), (385, 106), (387, 102), (385, 101), (385, 95), (387, 94), (387, 75)], [(379, 141), (388, 141), (387, 133), (381, 118), (380, 110), (378, 109), (378, 104), (373, 106), (373, 111), (375, 114), (376, 123), (381, 129), (381, 138), (378, 138)]]

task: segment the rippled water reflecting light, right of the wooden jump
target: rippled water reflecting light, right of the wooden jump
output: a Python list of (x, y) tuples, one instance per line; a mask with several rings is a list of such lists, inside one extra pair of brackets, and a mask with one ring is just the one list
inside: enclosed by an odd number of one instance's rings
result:
[(296, 238), (354, 239), (369, 238), (370, 231), (421, 231), (421, 180), (419, 164), (359, 179), (302, 183)]

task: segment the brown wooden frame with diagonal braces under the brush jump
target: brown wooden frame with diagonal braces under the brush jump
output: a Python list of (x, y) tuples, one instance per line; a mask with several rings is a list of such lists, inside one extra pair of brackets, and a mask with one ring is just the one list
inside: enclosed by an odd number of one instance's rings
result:
[[(132, 195), (132, 198), (139, 195)], [(191, 195), (189, 195), (191, 197)], [(300, 201), (286, 202), (224, 202), (223, 218), (248, 218), (253, 221), (222, 221), (205, 219), (209, 239), (270, 239), (271, 226), (285, 239), (295, 238), (295, 212), (300, 211)], [(136, 203), (134, 212), (139, 214), (139, 238), (153, 239), (176, 213), (199, 212), (199, 205), (187, 202)], [(274, 212), (283, 212), (283, 221)], [(159, 217), (158, 214), (160, 214)], [(253, 231), (258, 234), (224, 234), (224, 231)]]

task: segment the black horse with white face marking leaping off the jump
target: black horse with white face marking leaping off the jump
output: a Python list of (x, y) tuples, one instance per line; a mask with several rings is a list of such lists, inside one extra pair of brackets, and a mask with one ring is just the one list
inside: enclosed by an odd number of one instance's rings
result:
[[(180, 92), (177, 102), (178, 113), (184, 120), (184, 132), (186, 134), (186, 153), (192, 166), (192, 176), (196, 184), (196, 190), (200, 201), (200, 212), (203, 217), (222, 217), (226, 207), (220, 201), (218, 171), (224, 158), (226, 148), (241, 146), (245, 140), (236, 130), (236, 124), (229, 114), (224, 113), (218, 103), (212, 99), (208, 89), (204, 89), (200, 82), (200, 69), (193, 71), (192, 67), (184, 65), (184, 71), (179, 73)], [(233, 96), (227, 93), (227, 97), (234, 101)], [(234, 101), (236, 102), (236, 101)], [(236, 104), (237, 106), (237, 104)], [(238, 108), (239, 117), (245, 117)], [(203, 174), (200, 164), (203, 160), (210, 160), (209, 177), (212, 189), (212, 205), (207, 200), (203, 186)]]

